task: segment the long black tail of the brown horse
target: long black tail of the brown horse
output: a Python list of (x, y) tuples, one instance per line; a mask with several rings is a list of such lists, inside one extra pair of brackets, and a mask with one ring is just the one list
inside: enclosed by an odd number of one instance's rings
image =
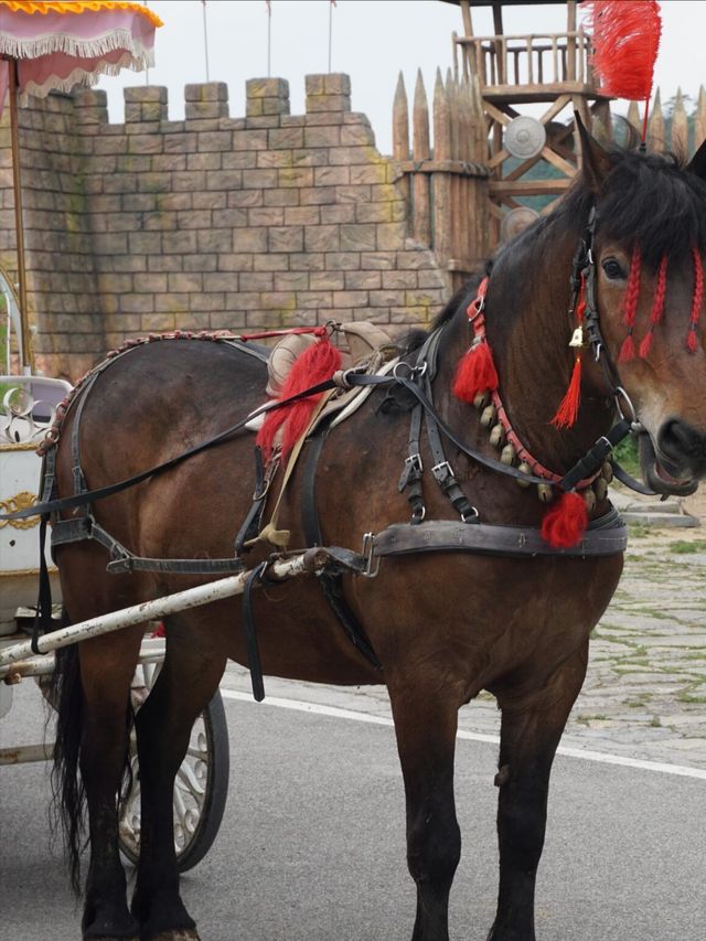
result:
[[(62, 625), (68, 624), (63, 612)], [(83, 735), (84, 696), (75, 644), (56, 651), (49, 699), (56, 709), (56, 744), (52, 768), (53, 820), (62, 828), (71, 883), (81, 886), (81, 851), (85, 833), (86, 794), (78, 770)]]

